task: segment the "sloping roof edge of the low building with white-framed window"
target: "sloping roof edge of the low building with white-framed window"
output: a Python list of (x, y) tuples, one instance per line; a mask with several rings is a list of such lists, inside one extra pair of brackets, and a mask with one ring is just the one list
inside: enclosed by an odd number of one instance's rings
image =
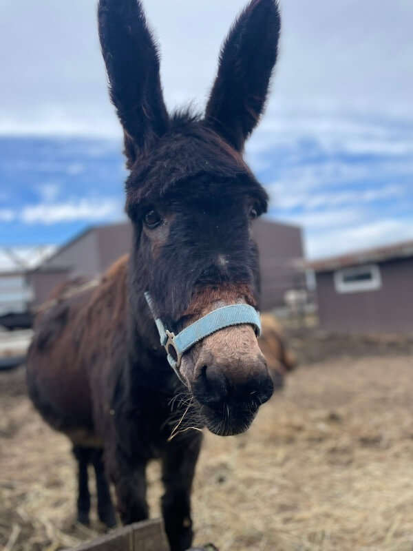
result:
[(396, 258), (413, 257), (413, 240), (394, 243), (393, 245), (384, 245), (374, 249), (363, 249), (353, 251), (341, 256), (331, 256), (329, 258), (320, 258), (306, 263), (306, 268), (314, 271), (330, 271), (338, 268), (346, 268), (366, 264), (368, 262), (385, 262)]

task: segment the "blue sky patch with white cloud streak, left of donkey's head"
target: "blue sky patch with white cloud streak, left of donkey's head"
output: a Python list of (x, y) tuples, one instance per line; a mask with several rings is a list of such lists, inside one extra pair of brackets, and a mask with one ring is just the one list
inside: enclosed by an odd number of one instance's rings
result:
[(3, 244), (59, 244), (88, 224), (123, 217), (118, 141), (0, 136)]

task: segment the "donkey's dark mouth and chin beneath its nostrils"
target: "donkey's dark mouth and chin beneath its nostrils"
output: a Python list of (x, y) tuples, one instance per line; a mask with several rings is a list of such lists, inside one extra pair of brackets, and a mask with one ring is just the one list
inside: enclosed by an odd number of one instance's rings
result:
[(209, 406), (201, 406), (200, 409), (205, 426), (218, 436), (244, 433), (251, 426), (257, 411), (258, 406), (253, 402), (242, 406), (224, 403), (219, 410)]

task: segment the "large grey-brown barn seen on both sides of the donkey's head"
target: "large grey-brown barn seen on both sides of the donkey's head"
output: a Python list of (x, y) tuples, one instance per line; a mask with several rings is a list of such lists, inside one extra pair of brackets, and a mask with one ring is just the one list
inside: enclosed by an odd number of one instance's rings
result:
[[(284, 305), (286, 291), (305, 287), (301, 228), (257, 220), (255, 238), (260, 248), (262, 309), (268, 310)], [(86, 229), (32, 272), (34, 305), (44, 302), (59, 282), (78, 276), (96, 278), (130, 246), (129, 222)]]

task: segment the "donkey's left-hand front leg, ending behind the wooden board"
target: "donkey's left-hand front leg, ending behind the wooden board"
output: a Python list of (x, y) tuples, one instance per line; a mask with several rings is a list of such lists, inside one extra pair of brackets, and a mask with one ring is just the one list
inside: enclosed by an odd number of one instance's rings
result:
[(116, 490), (117, 508), (123, 524), (148, 518), (146, 461), (129, 463), (120, 453), (108, 454), (108, 471)]

